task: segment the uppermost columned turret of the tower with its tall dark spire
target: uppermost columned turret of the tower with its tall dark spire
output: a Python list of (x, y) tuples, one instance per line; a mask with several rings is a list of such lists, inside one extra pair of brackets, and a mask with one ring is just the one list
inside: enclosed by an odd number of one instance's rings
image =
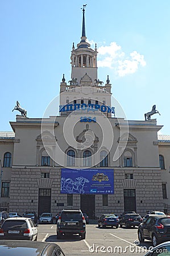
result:
[(72, 64), (72, 79), (77, 78), (78, 84), (81, 77), (88, 74), (92, 79), (97, 79), (97, 48), (90, 48), (90, 44), (86, 42), (85, 32), (85, 6), (82, 9), (82, 36), (80, 43), (77, 44), (77, 48), (72, 48), (71, 64)]

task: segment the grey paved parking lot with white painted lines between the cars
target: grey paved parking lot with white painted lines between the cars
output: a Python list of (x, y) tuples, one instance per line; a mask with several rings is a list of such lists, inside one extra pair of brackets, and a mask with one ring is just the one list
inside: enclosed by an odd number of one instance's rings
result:
[(150, 241), (138, 245), (138, 228), (98, 228), (86, 225), (86, 239), (77, 235), (56, 238), (56, 225), (39, 225), (38, 241), (56, 242), (66, 255), (144, 255), (152, 246)]

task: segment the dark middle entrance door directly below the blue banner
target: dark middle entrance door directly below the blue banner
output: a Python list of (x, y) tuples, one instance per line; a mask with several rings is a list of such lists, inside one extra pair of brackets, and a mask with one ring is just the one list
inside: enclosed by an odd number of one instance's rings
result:
[(95, 195), (81, 195), (81, 211), (91, 219), (95, 217)]

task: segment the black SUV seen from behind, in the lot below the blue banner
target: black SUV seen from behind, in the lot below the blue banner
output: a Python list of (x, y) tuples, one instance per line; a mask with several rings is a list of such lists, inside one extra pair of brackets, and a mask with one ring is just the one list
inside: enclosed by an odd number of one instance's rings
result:
[(79, 234), (85, 239), (86, 221), (81, 210), (62, 210), (57, 221), (57, 239), (68, 234)]

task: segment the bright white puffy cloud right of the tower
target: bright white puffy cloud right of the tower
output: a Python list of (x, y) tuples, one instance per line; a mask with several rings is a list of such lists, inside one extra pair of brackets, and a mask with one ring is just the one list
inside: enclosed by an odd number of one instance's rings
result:
[(142, 67), (146, 65), (143, 55), (133, 51), (129, 56), (126, 56), (121, 46), (118, 46), (116, 42), (111, 42), (110, 46), (101, 46), (97, 51), (98, 67), (113, 68), (118, 76), (135, 73), (139, 65)]

